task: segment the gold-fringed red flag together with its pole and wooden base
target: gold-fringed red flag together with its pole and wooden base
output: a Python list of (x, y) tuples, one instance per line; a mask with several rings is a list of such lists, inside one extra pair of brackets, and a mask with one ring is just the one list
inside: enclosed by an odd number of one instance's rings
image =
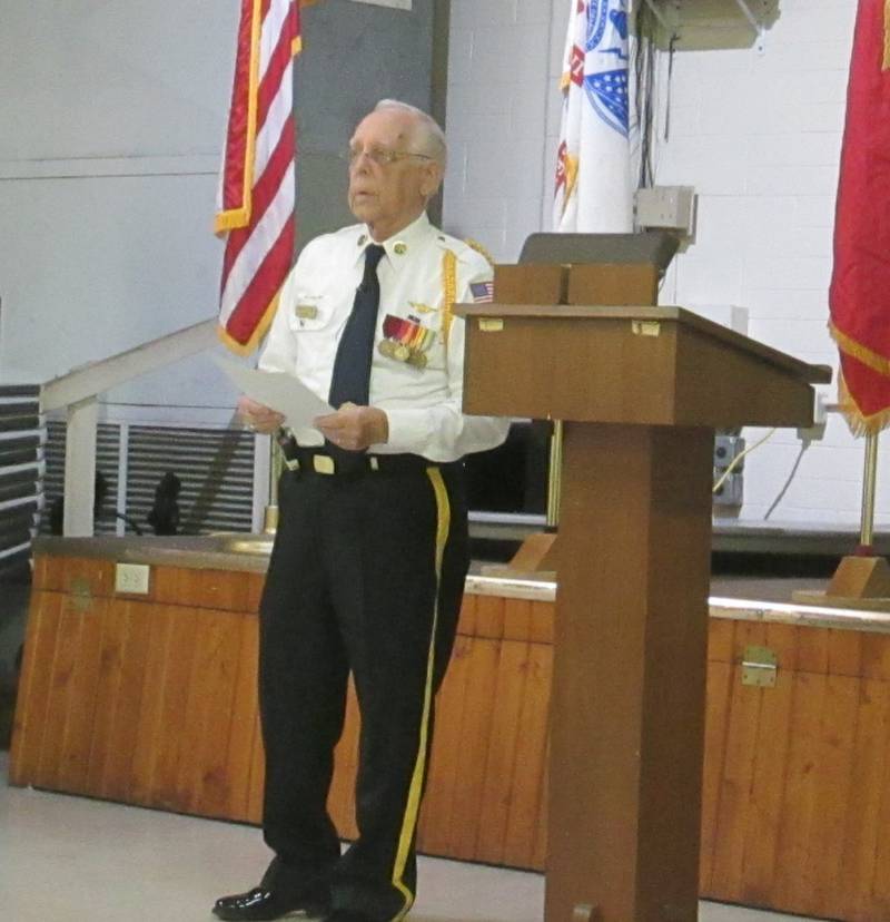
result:
[(850, 430), (857, 435), (866, 433), (862, 520), (859, 546), (841, 560), (828, 590), (793, 592), (792, 598), (811, 605), (890, 611), (890, 565), (874, 550), (878, 430), (890, 418), (890, 350), (886, 337), (890, 266), (874, 255), (890, 246), (887, 203), (874, 195), (890, 176), (890, 126), (874, 114), (883, 111), (890, 100), (890, 0), (860, 0), (856, 6), (834, 216), (829, 328), (840, 351), (841, 409)]

